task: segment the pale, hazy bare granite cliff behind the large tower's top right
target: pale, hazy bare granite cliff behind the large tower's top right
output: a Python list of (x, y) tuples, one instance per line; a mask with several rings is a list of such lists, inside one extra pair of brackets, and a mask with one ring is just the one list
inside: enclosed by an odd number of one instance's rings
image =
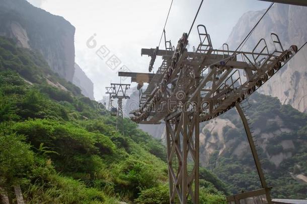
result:
[[(227, 43), (235, 50), (265, 11), (244, 14), (234, 27)], [(296, 44), (298, 47), (307, 41), (307, 7), (275, 4), (262, 19), (257, 29), (248, 39), (243, 50), (251, 51), (257, 42), (264, 38), (269, 50), (274, 50), (271, 33), (276, 33), (284, 47)], [(307, 111), (307, 46), (283, 67), (259, 90), (260, 93), (278, 97), (283, 104), (290, 104), (297, 110)]]

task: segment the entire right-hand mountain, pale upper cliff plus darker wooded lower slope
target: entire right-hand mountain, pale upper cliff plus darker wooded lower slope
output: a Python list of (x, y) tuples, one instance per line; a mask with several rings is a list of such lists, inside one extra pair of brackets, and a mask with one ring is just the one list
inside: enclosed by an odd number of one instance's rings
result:
[[(235, 50), (265, 11), (244, 14), (227, 42)], [(275, 4), (242, 50), (251, 51), (261, 38), (274, 50), (270, 33), (284, 49), (307, 41), (307, 8)], [(258, 153), (265, 168), (272, 197), (307, 197), (307, 46), (250, 97), (250, 118)], [(263, 94), (259, 94), (263, 93)], [(277, 98), (273, 98), (273, 97)], [(294, 109), (295, 108), (295, 109)], [(298, 111), (300, 112), (298, 112)], [(201, 124), (200, 160), (229, 185), (232, 193), (260, 188), (254, 161), (241, 119), (232, 109)]]

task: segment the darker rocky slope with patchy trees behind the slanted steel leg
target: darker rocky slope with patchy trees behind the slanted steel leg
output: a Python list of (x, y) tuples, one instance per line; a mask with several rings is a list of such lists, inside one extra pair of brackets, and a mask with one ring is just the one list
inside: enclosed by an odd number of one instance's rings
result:
[[(250, 118), (256, 149), (275, 197), (305, 198), (307, 115), (277, 98), (254, 93)], [(260, 188), (255, 164), (235, 109), (201, 123), (200, 163), (226, 182), (233, 193)], [(291, 191), (291, 185), (299, 186)], [(295, 193), (293, 193), (295, 191)]]

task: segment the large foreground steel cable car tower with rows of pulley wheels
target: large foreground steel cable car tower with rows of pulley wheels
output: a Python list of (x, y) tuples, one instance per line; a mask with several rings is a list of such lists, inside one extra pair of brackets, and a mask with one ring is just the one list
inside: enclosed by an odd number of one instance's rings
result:
[[(141, 49), (151, 57), (149, 71), (157, 56), (163, 62), (153, 77), (146, 78), (148, 87), (141, 94), (137, 110), (131, 120), (140, 124), (166, 123), (169, 166), (170, 203), (178, 197), (180, 203), (199, 199), (199, 123), (211, 120), (236, 107), (242, 118), (262, 188), (228, 196), (228, 203), (242, 203), (242, 199), (259, 199), (272, 203), (270, 188), (258, 159), (248, 119), (245, 115), (247, 98), (268, 81), (297, 52), (297, 46), (283, 49), (278, 36), (271, 34), (275, 50), (269, 51), (261, 39), (251, 51), (213, 49), (205, 26), (197, 26), (199, 44), (188, 51), (187, 33), (183, 33), (176, 47)], [(138, 73), (119, 72), (132, 77)], [(141, 73), (144, 75), (144, 73)], [(135, 76), (134, 76), (135, 75)], [(139, 83), (139, 82), (138, 82)], [(177, 167), (174, 161), (179, 164)], [(188, 168), (192, 166), (192, 168)]]

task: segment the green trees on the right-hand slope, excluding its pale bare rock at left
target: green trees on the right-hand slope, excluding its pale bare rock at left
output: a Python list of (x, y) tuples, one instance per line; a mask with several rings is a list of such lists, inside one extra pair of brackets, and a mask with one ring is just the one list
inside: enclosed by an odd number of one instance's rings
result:
[[(277, 98), (258, 93), (254, 93), (249, 101), (252, 106), (246, 114), (251, 118), (251, 127), (257, 132), (254, 140), (267, 183), (273, 187), (272, 197), (307, 198), (307, 183), (295, 177), (298, 174), (307, 176), (307, 114), (290, 105), (281, 105)], [(213, 154), (208, 168), (228, 185), (232, 193), (261, 188), (250, 149), (247, 148), (240, 156), (234, 154), (242, 141), (247, 142), (238, 113), (232, 109), (220, 117), (231, 120), (238, 127), (223, 129), (225, 141), (236, 142), (229, 142), (223, 155), (216, 157)], [(282, 144), (290, 146), (283, 147)], [(280, 164), (274, 164), (278, 155), (288, 156)]]

